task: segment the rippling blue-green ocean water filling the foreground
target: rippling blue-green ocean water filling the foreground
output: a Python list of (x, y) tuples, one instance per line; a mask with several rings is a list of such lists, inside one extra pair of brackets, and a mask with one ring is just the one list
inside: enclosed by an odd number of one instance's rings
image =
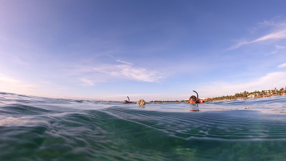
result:
[(0, 160), (282, 161), (286, 96), (136, 106), (0, 92)]

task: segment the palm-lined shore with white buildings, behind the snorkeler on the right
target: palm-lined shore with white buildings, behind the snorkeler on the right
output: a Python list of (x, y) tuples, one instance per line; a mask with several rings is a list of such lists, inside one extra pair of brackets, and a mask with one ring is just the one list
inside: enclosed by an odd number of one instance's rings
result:
[[(285, 87), (286, 89), (286, 87)], [(259, 90), (253, 92), (240, 92), (235, 93), (234, 95), (227, 95), (221, 97), (213, 97), (213, 98), (206, 98), (205, 101), (223, 101), (223, 100), (236, 100), (236, 99), (249, 99), (249, 98), (261, 98), (261, 97), (271, 97), (277, 95), (285, 95), (285, 89), (282, 87), (281, 89), (267, 89), (267, 90)], [(164, 102), (188, 102), (188, 100), (181, 100), (181, 101), (150, 101), (156, 103), (164, 103)]]

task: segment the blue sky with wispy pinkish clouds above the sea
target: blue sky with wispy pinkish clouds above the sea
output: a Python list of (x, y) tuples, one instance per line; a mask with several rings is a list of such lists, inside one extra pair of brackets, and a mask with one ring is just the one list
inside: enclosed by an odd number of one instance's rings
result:
[(285, 88), (285, 6), (0, 0), (0, 91), (152, 101)]

